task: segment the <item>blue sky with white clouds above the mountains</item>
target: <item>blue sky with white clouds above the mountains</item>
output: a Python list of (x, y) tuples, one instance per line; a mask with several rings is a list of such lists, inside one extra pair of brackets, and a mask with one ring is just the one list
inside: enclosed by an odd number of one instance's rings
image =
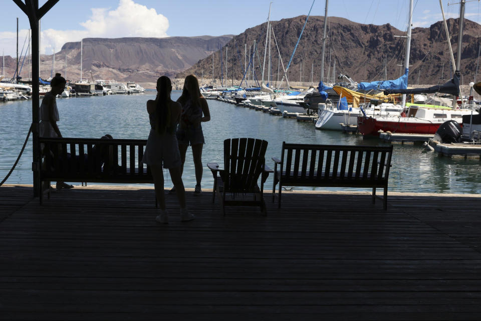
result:
[[(459, 15), (458, 0), (443, 0), (449, 17)], [(39, 1), (40, 5), (45, 0)], [(237, 35), (267, 20), (269, 0), (60, 0), (42, 19), (41, 53), (58, 52), (68, 41), (102, 37), (167, 37)], [(312, 0), (273, 1), (271, 20), (306, 15)], [(325, 1), (316, 0), (311, 15), (324, 16)], [(389, 23), (406, 30), (408, 0), (330, 1), (328, 16), (343, 17), (363, 24)], [(20, 47), (28, 19), (11, 0), (2, 0), (0, 51), (15, 55), (16, 17), (21, 30)], [(466, 4), (465, 18), (480, 23), (480, 3)], [(438, 0), (414, 0), (414, 27), (429, 27), (441, 20)], [(20, 49), (19, 49), (20, 50)], [(1, 54), (1, 52), (0, 52)]]

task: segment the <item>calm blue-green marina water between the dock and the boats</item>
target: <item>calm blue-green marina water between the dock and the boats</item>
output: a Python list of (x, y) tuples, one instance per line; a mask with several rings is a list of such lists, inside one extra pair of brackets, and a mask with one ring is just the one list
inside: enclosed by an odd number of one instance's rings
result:
[[(172, 99), (177, 99), (179, 95), (180, 93), (172, 93)], [(146, 92), (136, 95), (57, 99), (60, 113), (58, 125), (64, 137), (100, 138), (110, 133), (114, 138), (146, 139), (150, 125), (145, 103), (148, 99), (154, 98), (153, 92)], [(211, 189), (213, 184), (212, 175), (205, 164), (207, 162), (222, 164), (222, 143), (226, 138), (255, 137), (267, 140), (269, 146), (266, 163), (270, 167), (273, 165), (271, 157), (280, 158), (283, 141), (314, 144), (382, 144), (375, 138), (363, 139), (362, 136), (337, 131), (315, 130), (312, 123), (297, 122), (294, 119), (272, 116), (216, 100), (209, 100), (208, 103), (211, 121), (202, 123), (205, 136), (202, 153), (204, 191)], [(0, 119), (4, 124), (0, 133), (0, 180), (3, 180), (10, 171), (22, 148), (31, 124), (31, 106), (31, 101), (0, 103)], [(426, 152), (421, 145), (395, 144), (392, 163), (389, 176), (390, 191), (476, 194), (481, 192), (479, 160), (450, 159)], [(7, 183), (32, 184), (31, 164), (32, 138)], [(187, 150), (183, 180), (186, 188), (195, 186), (190, 149)], [(272, 187), (272, 177), (266, 184), (266, 188)], [(172, 187), (170, 178), (165, 180), (165, 186)]]

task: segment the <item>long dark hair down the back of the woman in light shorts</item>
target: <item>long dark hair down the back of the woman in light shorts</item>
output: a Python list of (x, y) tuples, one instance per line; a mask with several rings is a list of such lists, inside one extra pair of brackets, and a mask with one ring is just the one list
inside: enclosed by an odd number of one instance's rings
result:
[(159, 134), (165, 132), (172, 133), (173, 128), (170, 124), (170, 108), (168, 108), (168, 102), (170, 100), (170, 92), (172, 91), (172, 83), (169, 77), (162, 76), (157, 79), (157, 106), (155, 107), (155, 130)]

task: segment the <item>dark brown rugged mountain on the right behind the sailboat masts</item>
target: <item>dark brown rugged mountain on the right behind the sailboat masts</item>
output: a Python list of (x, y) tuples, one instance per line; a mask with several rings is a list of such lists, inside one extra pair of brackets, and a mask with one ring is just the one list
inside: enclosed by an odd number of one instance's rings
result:
[[(271, 40), (271, 74), (272, 82), (277, 79), (279, 55), (277, 45), (281, 53), (282, 62), (287, 67), (293, 49), (301, 33), (306, 16), (299, 16), (281, 21), (273, 21), (274, 30)], [(257, 43), (258, 53), (255, 57), (255, 74), (257, 79), (262, 78), (262, 62), (266, 39), (266, 23), (247, 29), (244, 33), (234, 36), (222, 48), (222, 60), (225, 62), (225, 47), (227, 46), (227, 61), (222, 66), (223, 78), (242, 79), (243, 66), (245, 65), (245, 44), (247, 55), (253, 50), (254, 41)], [(451, 44), (456, 55), (458, 19), (447, 20), (451, 37)], [(328, 17), (328, 38), (326, 41), (325, 77), (330, 71), (331, 78), (336, 63), (336, 74), (347, 74), (355, 81), (373, 81), (395, 79), (400, 76), (404, 64), (405, 32), (400, 31), (389, 24), (376, 26), (358, 24), (344, 18)], [(305, 84), (311, 83), (311, 70), (313, 70), (313, 82), (317, 84), (320, 79), (321, 51), (324, 28), (324, 17), (309, 17), (302, 39), (291, 62), (288, 76), (291, 81)], [(463, 46), (461, 54), (461, 73), (463, 82), (472, 81), (478, 57), (478, 48), (481, 42), (481, 25), (464, 20)], [(251, 48), (251, 49), (250, 49)], [(220, 78), (220, 52), (214, 55), (214, 78)], [(247, 60), (249, 64), (249, 59)], [(414, 28), (412, 30), (409, 84), (436, 84), (450, 78), (450, 59), (448, 44), (446, 41), (443, 24), (437, 22), (429, 28)], [(227, 66), (227, 76), (225, 74)], [(329, 66), (330, 65), (330, 66)], [(386, 66), (386, 67), (385, 67)], [(267, 82), (266, 63), (266, 82)], [(182, 78), (186, 74), (203, 73), (204, 78), (212, 77), (212, 56), (200, 60), (187, 70), (178, 73)], [(280, 67), (282, 78), (282, 66)], [(233, 75), (232, 75), (233, 74)], [(251, 76), (252, 77), (252, 76)], [(481, 77), (478, 77), (478, 79)], [(228, 82), (230, 84), (230, 81)]]

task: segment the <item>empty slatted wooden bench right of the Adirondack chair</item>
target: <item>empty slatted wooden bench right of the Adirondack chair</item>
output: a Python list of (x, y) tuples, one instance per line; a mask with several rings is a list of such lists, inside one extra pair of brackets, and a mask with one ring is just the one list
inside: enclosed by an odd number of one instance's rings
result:
[[(282, 143), (281, 160), (273, 157), (274, 184), (279, 184), (279, 208), (283, 186), (384, 189), (383, 206), (387, 209), (387, 185), (391, 167), (392, 145), (312, 145)], [(280, 169), (278, 170), (278, 165)]]

